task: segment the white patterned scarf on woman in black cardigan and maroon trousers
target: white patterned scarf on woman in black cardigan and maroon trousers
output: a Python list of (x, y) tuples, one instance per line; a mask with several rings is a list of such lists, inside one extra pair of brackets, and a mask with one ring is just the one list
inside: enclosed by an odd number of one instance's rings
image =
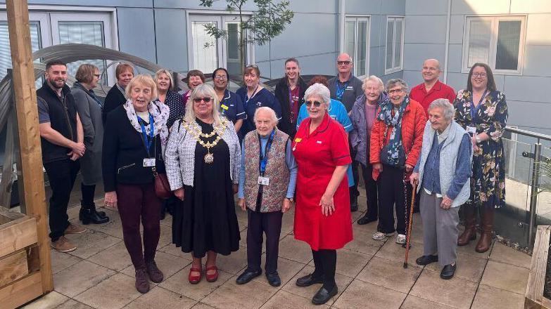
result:
[[(136, 114), (136, 110), (134, 110), (132, 100), (128, 99), (126, 103), (122, 105), (122, 107), (125, 107), (126, 115), (128, 117), (128, 120), (130, 121), (130, 124), (132, 124), (132, 126), (134, 126), (134, 129), (136, 129), (136, 131), (141, 134), (141, 126), (138, 122), (138, 116)], [(160, 147), (164, 154), (165, 146), (167, 145), (168, 140), (167, 120), (170, 109), (168, 105), (156, 101), (148, 103), (147, 110), (151, 114), (151, 116), (153, 116), (153, 136), (159, 135)], [(151, 126), (146, 126), (145, 129), (147, 135), (150, 135)]]

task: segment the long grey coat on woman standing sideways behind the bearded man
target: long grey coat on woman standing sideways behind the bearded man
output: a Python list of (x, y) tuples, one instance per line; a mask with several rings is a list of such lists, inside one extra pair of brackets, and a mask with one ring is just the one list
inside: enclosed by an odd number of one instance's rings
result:
[(94, 100), (81, 84), (75, 83), (71, 88), (75, 105), (84, 129), (86, 152), (80, 159), (80, 173), (84, 185), (101, 183), (101, 149), (103, 146), (103, 121), (101, 105)]

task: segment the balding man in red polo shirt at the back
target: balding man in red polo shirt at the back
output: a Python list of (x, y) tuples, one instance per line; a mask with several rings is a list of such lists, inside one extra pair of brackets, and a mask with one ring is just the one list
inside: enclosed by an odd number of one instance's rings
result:
[(453, 104), (455, 91), (453, 88), (438, 80), (440, 77), (440, 63), (436, 59), (427, 59), (423, 63), (423, 82), (412, 88), (410, 98), (421, 103), (425, 110), (426, 119), (429, 119), (429, 105), (433, 100), (444, 98)]

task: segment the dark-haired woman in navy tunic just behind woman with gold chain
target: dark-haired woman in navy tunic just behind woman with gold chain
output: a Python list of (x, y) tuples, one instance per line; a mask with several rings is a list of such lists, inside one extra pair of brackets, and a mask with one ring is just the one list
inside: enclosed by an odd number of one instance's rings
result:
[(226, 69), (219, 67), (213, 72), (213, 84), (216, 96), (220, 100), (220, 114), (234, 123), (235, 131), (239, 132), (243, 119), (247, 117), (243, 108), (243, 101), (236, 93), (227, 90), (229, 74)]

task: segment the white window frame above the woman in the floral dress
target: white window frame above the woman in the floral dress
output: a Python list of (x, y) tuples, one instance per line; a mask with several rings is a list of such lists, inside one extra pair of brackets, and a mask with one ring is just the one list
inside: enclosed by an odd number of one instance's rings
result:
[[(463, 51), (461, 60), (461, 72), (469, 73), (469, 35), (472, 20), (489, 20), (490, 21), (490, 42), (488, 45), (488, 61), (487, 64), (492, 69), (493, 74), (500, 75), (522, 75), (524, 69), (524, 53), (526, 48), (526, 15), (465, 15), (464, 31), (463, 31)], [(495, 60), (498, 51), (498, 29), (500, 21), (520, 21), (520, 37), (519, 37), (519, 55), (517, 70), (496, 70)]]

